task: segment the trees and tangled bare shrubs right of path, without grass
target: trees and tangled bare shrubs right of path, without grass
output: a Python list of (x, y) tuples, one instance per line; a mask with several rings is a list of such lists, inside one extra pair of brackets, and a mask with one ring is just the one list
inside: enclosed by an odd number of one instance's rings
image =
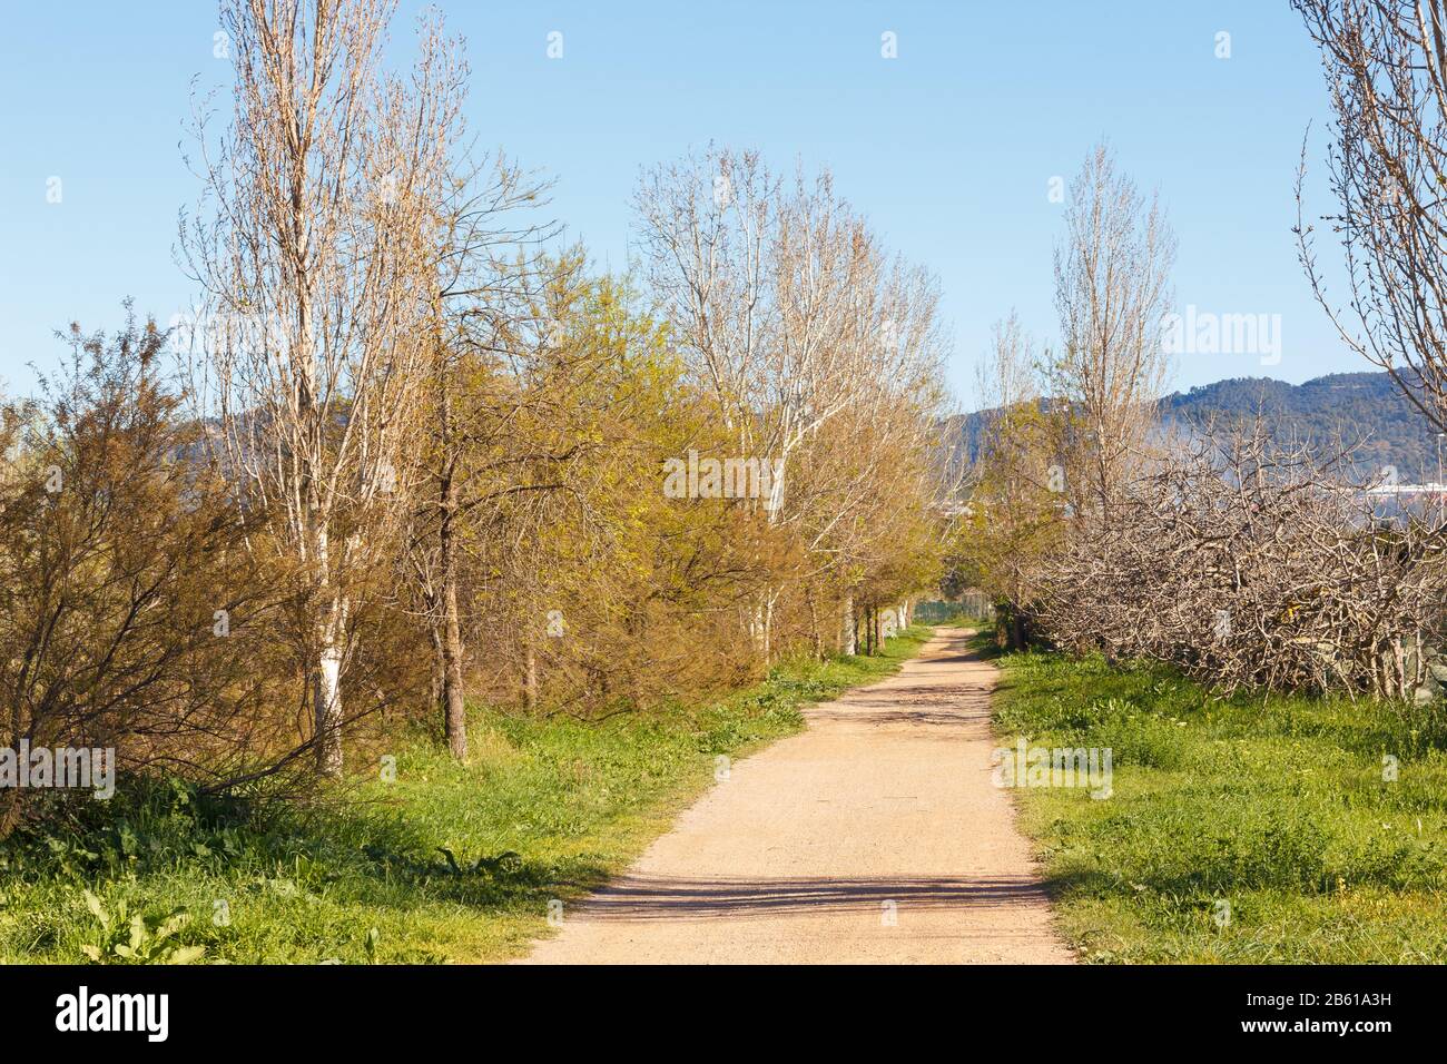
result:
[[(1301, 261), (1343, 342), (1447, 428), (1447, 7), (1294, 0), (1320, 46), (1334, 123), (1330, 295), (1305, 220)], [(1305, 156), (1304, 156), (1305, 158)], [(1169, 237), (1097, 152), (1056, 256), (1058, 350), (1010, 320), (955, 567), (1001, 602), (1019, 644), (1172, 662), (1229, 688), (1418, 693), (1444, 644), (1447, 528), (1262, 426), (1168, 436), (1153, 421)]]

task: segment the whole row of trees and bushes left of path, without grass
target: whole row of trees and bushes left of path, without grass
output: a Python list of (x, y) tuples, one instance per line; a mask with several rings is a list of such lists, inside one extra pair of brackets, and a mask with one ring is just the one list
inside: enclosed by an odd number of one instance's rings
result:
[(938, 576), (930, 278), (725, 149), (647, 172), (637, 275), (592, 274), (473, 151), (434, 16), (383, 67), (392, 7), (224, 0), (195, 314), (75, 327), (6, 407), (12, 744), (227, 786), (421, 717), (464, 757), (469, 699), (705, 692)]

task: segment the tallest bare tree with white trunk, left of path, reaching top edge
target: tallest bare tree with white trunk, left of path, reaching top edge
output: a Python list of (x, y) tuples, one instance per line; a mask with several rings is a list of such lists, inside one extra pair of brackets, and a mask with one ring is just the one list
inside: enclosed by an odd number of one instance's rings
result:
[(203, 413), (307, 573), (318, 770), (341, 772), (355, 589), (405, 515), (463, 67), (421, 26), (382, 69), (392, 0), (224, 0), (230, 129), (198, 117), (200, 223), (182, 243), (207, 329)]

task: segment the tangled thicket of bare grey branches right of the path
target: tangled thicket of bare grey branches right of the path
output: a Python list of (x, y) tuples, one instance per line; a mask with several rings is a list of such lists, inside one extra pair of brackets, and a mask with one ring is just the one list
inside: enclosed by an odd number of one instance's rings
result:
[(1441, 518), (1383, 520), (1346, 460), (1260, 433), (1174, 450), (1049, 560), (1045, 630), (1226, 689), (1411, 696), (1441, 644)]

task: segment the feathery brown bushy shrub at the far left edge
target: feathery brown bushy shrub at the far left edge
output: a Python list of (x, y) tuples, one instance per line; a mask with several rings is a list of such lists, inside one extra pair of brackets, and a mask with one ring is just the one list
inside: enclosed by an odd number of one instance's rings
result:
[(111, 748), (111, 769), (216, 788), (273, 772), (295, 751), (268, 714), (287, 575), (245, 549), (263, 521), (200, 460), (153, 321), (65, 340), (39, 400), (0, 407), (3, 746)]

